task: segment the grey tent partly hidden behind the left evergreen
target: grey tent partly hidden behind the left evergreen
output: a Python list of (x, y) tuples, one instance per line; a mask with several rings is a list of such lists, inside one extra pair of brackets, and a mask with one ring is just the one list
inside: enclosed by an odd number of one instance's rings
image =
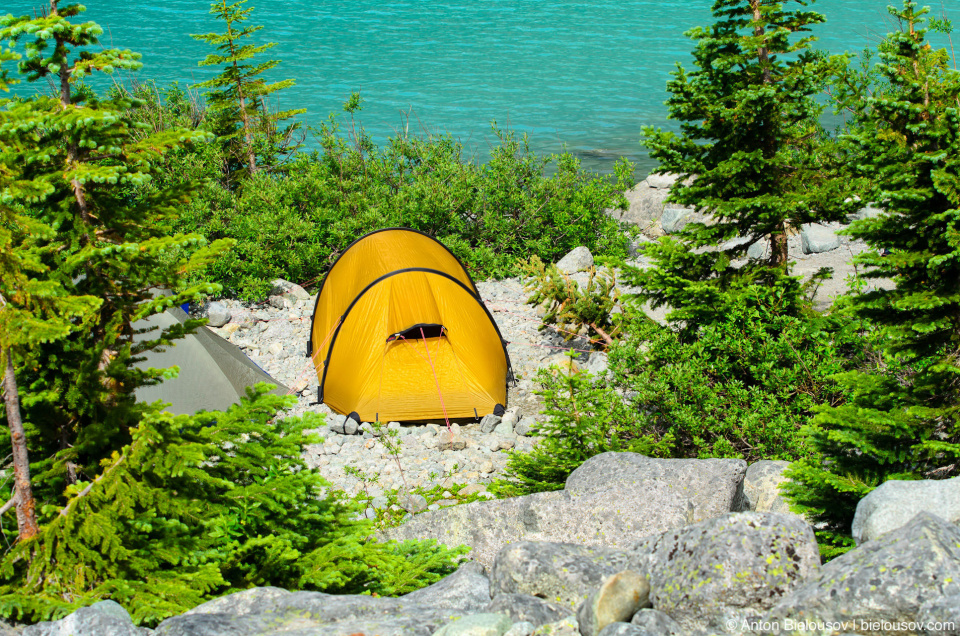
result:
[[(167, 292), (169, 293), (169, 292)], [(183, 323), (187, 314), (173, 307), (134, 324), (137, 329), (159, 327), (167, 329), (177, 322)], [(137, 339), (156, 337), (158, 331), (140, 334)], [(180, 367), (180, 375), (155, 386), (140, 387), (136, 391), (140, 402), (168, 402), (168, 411), (175, 415), (192, 415), (200, 410), (222, 411), (231, 404), (239, 404), (246, 396), (246, 388), (258, 382), (276, 384), (277, 395), (288, 392), (263, 369), (250, 360), (236, 345), (227, 342), (206, 327), (193, 335), (174, 341), (174, 346), (165, 351), (151, 351), (137, 364), (141, 369), (153, 367)]]

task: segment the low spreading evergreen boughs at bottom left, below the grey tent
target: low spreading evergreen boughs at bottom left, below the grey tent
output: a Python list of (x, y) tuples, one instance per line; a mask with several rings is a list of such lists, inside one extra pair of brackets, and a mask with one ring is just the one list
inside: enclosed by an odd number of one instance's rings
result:
[(293, 398), (267, 390), (226, 412), (151, 407), (101, 473), (44, 506), (40, 534), (4, 555), (0, 615), (46, 620), (109, 598), (155, 625), (255, 586), (398, 595), (453, 571), (458, 550), (370, 540), (370, 522), (302, 459), (321, 418), (276, 419)]

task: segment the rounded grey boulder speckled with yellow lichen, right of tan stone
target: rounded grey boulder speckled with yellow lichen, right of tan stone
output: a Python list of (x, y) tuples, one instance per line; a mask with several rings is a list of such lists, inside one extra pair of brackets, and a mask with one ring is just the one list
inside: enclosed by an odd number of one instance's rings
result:
[(733, 632), (819, 571), (813, 529), (794, 515), (743, 512), (635, 547), (653, 607), (687, 631)]

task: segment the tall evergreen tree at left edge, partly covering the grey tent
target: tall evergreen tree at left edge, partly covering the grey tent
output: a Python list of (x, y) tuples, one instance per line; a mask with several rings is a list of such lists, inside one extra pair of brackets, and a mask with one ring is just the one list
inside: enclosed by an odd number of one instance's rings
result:
[[(129, 51), (99, 49), (100, 27), (71, 22), (82, 11), (52, 0), (44, 15), (0, 18), (0, 38), (26, 40), (20, 72), (57, 87), (56, 96), (8, 105), (0, 115), (3, 163), (18, 171), (3, 205), (52, 230), (31, 236), (44, 268), (34, 272), (49, 281), (45, 293), (100, 301), (87, 328), (14, 351), (41, 500), (56, 500), (66, 484), (89, 478), (105, 452), (129, 440), (143, 411), (134, 390), (162, 378), (161, 370), (134, 368), (136, 356), (198, 324), (135, 342), (133, 322), (215, 291), (197, 285), (153, 298), (151, 289), (177, 289), (185, 274), (227, 247), (206, 245), (198, 235), (167, 235), (164, 225), (195, 186), (158, 187), (152, 179), (166, 153), (207, 134), (168, 130), (135, 139), (137, 125), (125, 114), (129, 99), (98, 100), (76, 90), (93, 72), (140, 66)], [(74, 48), (80, 51), (71, 58)]]

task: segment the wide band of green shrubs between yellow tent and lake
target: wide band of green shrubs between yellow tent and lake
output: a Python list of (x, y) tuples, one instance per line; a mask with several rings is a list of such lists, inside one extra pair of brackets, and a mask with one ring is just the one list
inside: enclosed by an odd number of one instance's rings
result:
[(331, 118), (318, 131), (320, 150), (259, 171), (236, 192), (223, 186), (223, 157), (209, 144), (167, 168), (170, 179), (198, 167), (208, 177), (173, 229), (236, 240), (197, 276), (246, 299), (262, 297), (277, 277), (317, 282), (351, 242), (384, 227), (437, 238), (480, 279), (517, 274), (531, 255), (554, 262), (580, 245), (625, 255), (604, 210), (625, 205), (632, 166), (619, 164), (614, 182), (584, 172), (570, 154), (538, 157), (525, 137), (496, 134), (499, 145), (479, 165), (450, 137), (398, 136), (378, 147), (362, 129), (342, 134)]

